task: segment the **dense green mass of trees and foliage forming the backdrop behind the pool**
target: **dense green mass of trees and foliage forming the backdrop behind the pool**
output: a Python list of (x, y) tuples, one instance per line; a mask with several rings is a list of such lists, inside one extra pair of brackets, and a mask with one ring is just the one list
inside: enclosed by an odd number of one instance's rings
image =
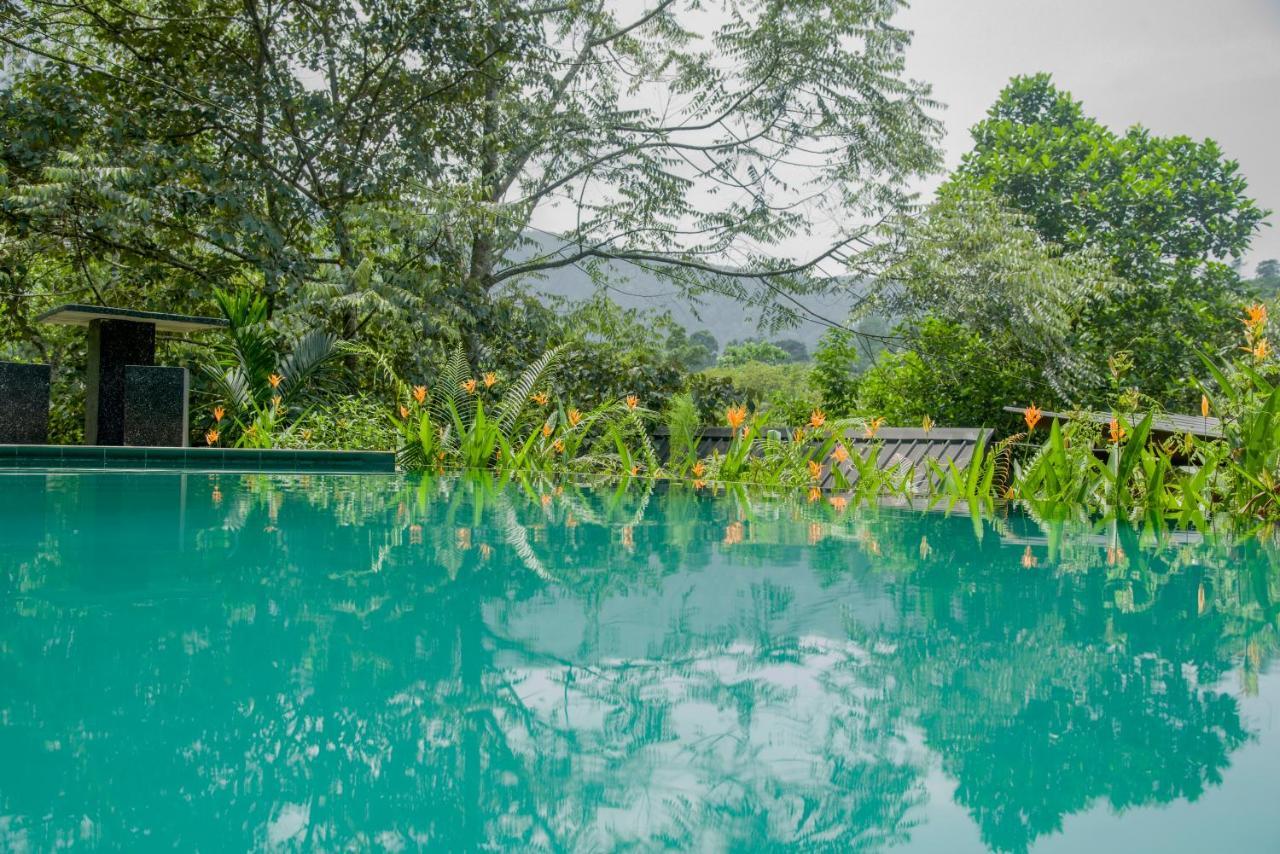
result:
[[(228, 314), (252, 334), (165, 344), (197, 399), (274, 399), (289, 359), (282, 419), (342, 447), (393, 444), (396, 382), (454, 350), (506, 378), (558, 347), (575, 406), (704, 419), (1197, 411), (1202, 353), (1280, 288), (1242, 269), (1268, 211), (1238, 164), (1032, 74), (922, 200), (942, 105), (901, 5), (9, 3), (0, 359), (54, 366), (64, 442), (83, 333), (37, 318), (65, 302)], [(593, 292), (549, 296), (568, 271)], [(700, 320), (733, 310), (754, 334)], [(275, 355), (244, 365), (248, 341)]]

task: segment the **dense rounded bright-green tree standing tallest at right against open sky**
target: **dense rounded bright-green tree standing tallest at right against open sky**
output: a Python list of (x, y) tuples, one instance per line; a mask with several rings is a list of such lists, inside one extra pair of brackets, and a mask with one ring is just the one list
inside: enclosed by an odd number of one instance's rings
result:
[(1092, 374), (1069, 385), (1051, 371), (1055, 389), (1071, 402), (1110, 405), (1097, 374), (1124, 351), (1135, 362), (1132, 382), (1151, 402), (1194, 406), (1197, 351), (1236, 344), (1247, 289), (1228, 261), (1240, 257), (1268, 214), (1245, 195), (1238, 164), (1212, 140), (1157, 137), (1140, 127), (1115, 133), (1047, 74), (1014, 78), (973, 138), (943, 197), (993, 193), (1052, 251), (1061, 248), (1062, 262), (1101, 257), (1114, 273), (1098, 280), (1101, 289), (1062, 294), (1064, 306), (1075, 306), (1070, 326), (1062, 315), (1039, 316), (1053, 288), (1027, 279), (1037, 297), (1024, 305), (1036, 316), (1020, 321), (1066, 334), (1060, 352), (1071, 356), (1073, 373)]

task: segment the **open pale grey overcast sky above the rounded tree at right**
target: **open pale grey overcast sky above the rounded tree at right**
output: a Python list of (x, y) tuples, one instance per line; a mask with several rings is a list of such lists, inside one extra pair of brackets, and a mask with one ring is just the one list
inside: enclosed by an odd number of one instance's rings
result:
[[(1280, 0), (913, 0), (909, 73), (947, 105), (947, 168), (1014, 74), (1050, 72), (1114, 129), (1211, 137), (1280, 211)], [(1280, 259), (1280, 216), (1245, 260)]]

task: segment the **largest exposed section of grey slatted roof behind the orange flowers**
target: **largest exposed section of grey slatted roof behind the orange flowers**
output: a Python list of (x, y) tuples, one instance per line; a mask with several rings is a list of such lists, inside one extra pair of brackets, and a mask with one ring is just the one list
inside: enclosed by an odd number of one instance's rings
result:
[[(850, 453), (858, 453), (864, 460), (873, 446), (878, 444), (876, 466), (881, 471), (892, 469), (899, 474), (909, 474), (914, 489), (924, 492), (932, 475), (927, 460), (933, 460), (942, 467), (955, 462), (963, 469), (973, 460), (974, 451), (986, 444), (988, 438), (991, 430), (984, 428), (933, 428), (928, 431), (920, 428), (881, 428), (874, 438), (849, 430), (844, 444)], [(823, 469), (820, 481), (823, 489), (837, 488), (832, 466), (840, 467), (850, 487), (858, 485), (859, 475), (854, 461), (850, 458), (837, 462), (829, 457)]]

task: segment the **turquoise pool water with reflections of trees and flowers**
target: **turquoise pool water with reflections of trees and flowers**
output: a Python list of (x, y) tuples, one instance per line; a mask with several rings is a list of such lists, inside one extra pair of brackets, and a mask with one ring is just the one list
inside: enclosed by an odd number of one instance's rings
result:
[(0, 849), (1276, 851), (1257, 543), (0, 475)]

